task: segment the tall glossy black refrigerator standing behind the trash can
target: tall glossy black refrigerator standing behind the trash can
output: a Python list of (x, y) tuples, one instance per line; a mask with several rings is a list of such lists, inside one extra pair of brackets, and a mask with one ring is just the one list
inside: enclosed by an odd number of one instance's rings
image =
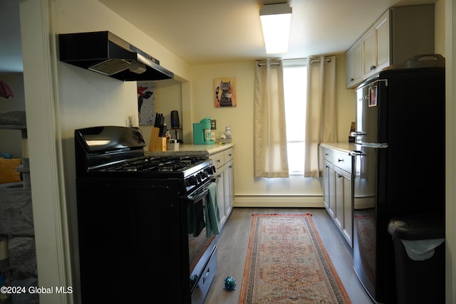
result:
[(395, 303), (396, 216), (445, 212), (445, 68), (383, 70), (356, 89), (353, 263), (376, 303)]

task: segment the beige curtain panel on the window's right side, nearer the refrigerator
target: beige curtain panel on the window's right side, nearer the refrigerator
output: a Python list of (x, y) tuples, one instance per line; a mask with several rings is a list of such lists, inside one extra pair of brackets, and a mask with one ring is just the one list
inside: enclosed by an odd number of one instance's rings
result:
[(319, 144), (337, 142), (336, 56), (307, 58), (304, 177), (321, 176)]

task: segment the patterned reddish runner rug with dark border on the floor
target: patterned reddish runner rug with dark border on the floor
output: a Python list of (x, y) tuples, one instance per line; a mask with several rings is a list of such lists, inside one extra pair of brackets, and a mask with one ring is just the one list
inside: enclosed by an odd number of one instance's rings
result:
[(254, 214), (240, 304), (351, 303), (311, 214)]

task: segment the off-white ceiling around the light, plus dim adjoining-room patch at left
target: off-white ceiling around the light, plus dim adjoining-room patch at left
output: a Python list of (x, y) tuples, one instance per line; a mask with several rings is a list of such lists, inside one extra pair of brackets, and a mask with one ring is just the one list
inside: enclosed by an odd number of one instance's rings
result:
[[(289, 0), (293, 9), (289, 52), (268, 56), (259, 9), (280, 0), (99, 1), (192, 65), (341, 53), (388, 7), (436, 2)], [(0, 26), (0, 71), (21, 66), (18, 5), (19, 0), (0, 1), (0, 20), (8, 25)]]

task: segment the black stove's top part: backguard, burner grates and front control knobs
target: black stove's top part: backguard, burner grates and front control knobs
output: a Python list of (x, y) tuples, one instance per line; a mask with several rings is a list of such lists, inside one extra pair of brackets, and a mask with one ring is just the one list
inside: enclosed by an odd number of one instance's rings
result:
[(212, 159), (145, 156), (140, 130), (130, 127), (89, 127), (75, 131), (77, 177), (179, 178), (181, 194), (190, 194), (213, 178)]

